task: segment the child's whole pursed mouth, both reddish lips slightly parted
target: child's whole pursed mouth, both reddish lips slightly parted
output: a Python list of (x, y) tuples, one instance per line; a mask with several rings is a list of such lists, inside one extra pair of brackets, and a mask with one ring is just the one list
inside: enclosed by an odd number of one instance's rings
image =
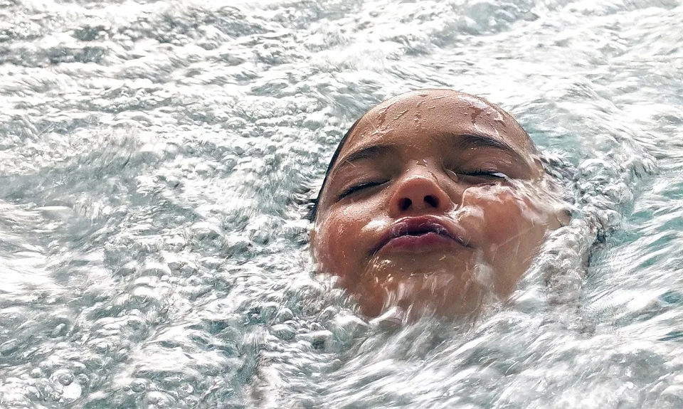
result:
[(470, 247), (459, 230), (434, 216), (401, 218), (382, 235), (372, 254), (383, 249), (420, 252), (452, 245)]

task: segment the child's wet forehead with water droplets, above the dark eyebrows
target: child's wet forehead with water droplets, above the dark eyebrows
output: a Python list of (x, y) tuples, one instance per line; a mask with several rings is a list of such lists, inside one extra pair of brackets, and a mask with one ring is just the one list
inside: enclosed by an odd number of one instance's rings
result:
[(342, 148), (382, 142), (424, 144), (435, 135), (485, 134), (506, 142), (520, 154), (535, 152), (534, 143), (507, 112), (473, 95), (452, 90), (422, 90), (398, 95), (369, 110)]

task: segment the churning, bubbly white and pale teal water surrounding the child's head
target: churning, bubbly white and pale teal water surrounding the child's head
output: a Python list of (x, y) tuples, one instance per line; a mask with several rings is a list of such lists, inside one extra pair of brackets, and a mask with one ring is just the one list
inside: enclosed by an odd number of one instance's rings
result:
[[(230, 4), (0, 1), (2, 408), (683, 406), (680, 1)], [(378, 329), (302, 216), (419, 87), (512, 112), (577, 216), (509, 306)]]

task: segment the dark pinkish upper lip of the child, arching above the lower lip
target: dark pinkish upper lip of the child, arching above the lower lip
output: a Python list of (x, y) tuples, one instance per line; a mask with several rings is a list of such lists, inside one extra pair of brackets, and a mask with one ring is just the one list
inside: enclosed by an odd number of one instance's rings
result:
[(436, 216), (408, 216), (398, 219), (387, 229), (373, 248), (372, 254), (377, 253), (395, 238), (406, 235), (420, 236), (427, 233), (436, 233), (459, 243), (463, 247), (471, 247), (469, 240), (462, 238), (462, 229), (458, 228), (452, 221)]

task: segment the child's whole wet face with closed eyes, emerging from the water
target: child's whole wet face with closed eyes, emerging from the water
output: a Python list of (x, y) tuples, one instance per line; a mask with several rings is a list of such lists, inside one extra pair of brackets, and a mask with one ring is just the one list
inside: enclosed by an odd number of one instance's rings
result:
[(559, 224), (534, 152), (510, 115), (470, 95), (383, 102), (349, 135), (319, 198), (320, 270), (373, 317), (504, 299)]

